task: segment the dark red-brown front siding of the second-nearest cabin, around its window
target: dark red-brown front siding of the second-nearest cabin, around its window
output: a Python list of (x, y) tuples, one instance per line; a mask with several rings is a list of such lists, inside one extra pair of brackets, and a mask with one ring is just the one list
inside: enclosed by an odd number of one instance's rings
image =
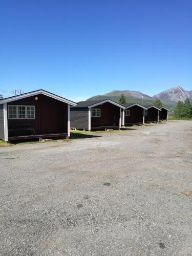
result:
[(101, 117), (91, 117), (91, 127), (119, 125), (119, 106), (106, 102), (92, 109), (100, 109)]

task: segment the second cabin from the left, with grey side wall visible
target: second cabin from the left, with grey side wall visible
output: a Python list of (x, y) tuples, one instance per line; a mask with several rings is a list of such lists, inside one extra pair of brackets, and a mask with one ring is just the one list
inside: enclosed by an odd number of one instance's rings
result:
[(122, 108), (110, 99), (80, 101), (71, 108), (71, 127), (89, 131), (119, 129)]

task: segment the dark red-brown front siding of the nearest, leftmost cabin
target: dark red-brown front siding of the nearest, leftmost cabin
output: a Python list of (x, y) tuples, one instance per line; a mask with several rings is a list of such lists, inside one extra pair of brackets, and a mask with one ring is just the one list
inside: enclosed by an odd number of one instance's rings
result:
[[(14, 124), (28, 123), (36, 134), (67, 133), (68, 132), (68, 104), (45, 95), (35, 96), (9, 102), (8, 105), (34, 105), (35, 119), (8, 119), (8, 129)], [(9, 136), (13, 136), (9, 133)]]

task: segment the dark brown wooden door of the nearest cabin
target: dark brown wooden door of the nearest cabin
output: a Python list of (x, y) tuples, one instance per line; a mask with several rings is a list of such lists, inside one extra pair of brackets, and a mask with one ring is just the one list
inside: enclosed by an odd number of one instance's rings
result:
[(51, 106), (49, 104), (42, 104), (40, 106), (40, 133), (52, 132), (52, 117)]

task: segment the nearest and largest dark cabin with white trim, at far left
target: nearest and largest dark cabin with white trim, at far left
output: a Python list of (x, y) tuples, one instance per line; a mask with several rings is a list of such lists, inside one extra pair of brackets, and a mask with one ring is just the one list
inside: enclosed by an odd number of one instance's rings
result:
[(5, 141), (70, 137), (70, 106), (76, 103), (45, 90), (0, 100), (0, 138)]

